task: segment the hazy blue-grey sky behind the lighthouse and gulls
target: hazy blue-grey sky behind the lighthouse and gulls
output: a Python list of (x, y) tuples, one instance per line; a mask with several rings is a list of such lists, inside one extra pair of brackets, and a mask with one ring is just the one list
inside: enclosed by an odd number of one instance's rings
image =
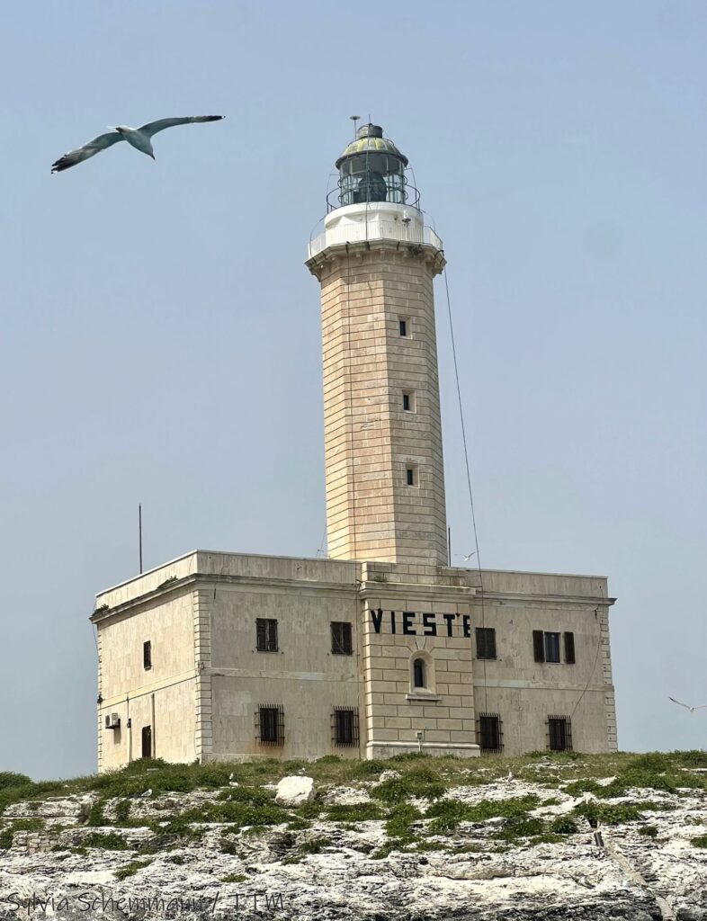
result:
[[(707, 6), (55, 0), (0, 38), (0, 770), (95, 768), (93, 597), (314, 556), (348, 116), (445, 241), (486, 566), (607, 575), (622, 749), (707, 747)], [(223, 113), (50, 175), (110, 124)], [(472, 547), (437, 283), (448, 517)], [(455, 562), (460, 563), (460, 558)]]

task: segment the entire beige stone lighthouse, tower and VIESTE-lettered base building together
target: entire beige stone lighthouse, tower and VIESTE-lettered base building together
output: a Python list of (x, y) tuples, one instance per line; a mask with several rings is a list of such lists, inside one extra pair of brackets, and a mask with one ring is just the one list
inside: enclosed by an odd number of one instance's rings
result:
[(101, 592), (99, 769), (617, 747), (604, 577), (447, 565), (433, 280), (376, 125), (307, 267), (321, 286), (327, 559), (196, 551)]

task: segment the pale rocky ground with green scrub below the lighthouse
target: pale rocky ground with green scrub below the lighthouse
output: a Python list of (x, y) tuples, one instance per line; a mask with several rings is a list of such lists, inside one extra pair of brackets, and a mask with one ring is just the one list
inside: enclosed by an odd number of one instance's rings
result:
[(704, 771), (640, 763), (236, 767), (207, 788), (145, 768), (120, 796), (9, 797), (0, 918), (707, 921)]

